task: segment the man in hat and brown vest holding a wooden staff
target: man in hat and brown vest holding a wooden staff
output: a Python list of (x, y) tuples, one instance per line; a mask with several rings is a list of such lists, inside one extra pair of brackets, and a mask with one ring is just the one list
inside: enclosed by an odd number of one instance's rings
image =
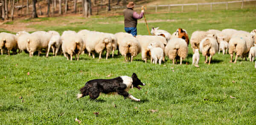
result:
[(125, 17), (125, 32), (136, 36), (138, 23), (137, 20), (143, 17), (144, 10), (141, 10), (141, 13), (137, 14), (137, 12), (133, 10), (134, 6), (135, 4), (133, 2), (129, 2), (126, 6), (127, 9), (123, 11), (123, 14)]

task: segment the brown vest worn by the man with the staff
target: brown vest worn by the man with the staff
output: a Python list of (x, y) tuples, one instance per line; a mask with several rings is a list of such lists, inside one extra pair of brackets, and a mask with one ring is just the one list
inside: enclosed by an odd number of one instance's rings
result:
[(132, 9), (125, 9), (123, 11), (125, 17), (125, 27), (137, 27), (137, 19), (133, 17), (134, 10)]

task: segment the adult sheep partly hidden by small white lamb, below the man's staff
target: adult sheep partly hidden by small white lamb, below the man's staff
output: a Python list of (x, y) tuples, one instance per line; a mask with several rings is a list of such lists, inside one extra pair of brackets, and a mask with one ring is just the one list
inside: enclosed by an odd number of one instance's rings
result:
[[(148, 45), (152, 42), (155, 42), (154, 47), (160, 47), (164, 50), (164, 43), (166, 39), (161, 36), (150, 36), (150, 35), (137, 35), (137, 41), (139, 41), (141, 46), (141, 56), (142, 59), (147, 63), (147, 57), (151, 57), (150, 49), (148, 49)], [(166, 42), (167, 43), (167, 42)], [(164, 58), (163, 58), (164, 61)]]

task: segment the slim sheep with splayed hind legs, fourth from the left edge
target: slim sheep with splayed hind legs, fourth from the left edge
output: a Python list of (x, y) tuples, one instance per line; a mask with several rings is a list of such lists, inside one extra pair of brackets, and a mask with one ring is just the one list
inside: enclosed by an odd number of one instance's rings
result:
[[(58, 50), (61, 48), (61, 44), (62, 44), (61, 36), (60, 35), (52, 35), (52, 38), (50, 39), (49, 44), (48, 44), (48, 51), (47, 51), (46, 57), (48, 57), (50, 48), (53, 46), (54, 46), (54, 48), (56, 47), (55, 56), (57, 56)], [(52, 48), (53, 53), (54, 53), (54, 48)]]

